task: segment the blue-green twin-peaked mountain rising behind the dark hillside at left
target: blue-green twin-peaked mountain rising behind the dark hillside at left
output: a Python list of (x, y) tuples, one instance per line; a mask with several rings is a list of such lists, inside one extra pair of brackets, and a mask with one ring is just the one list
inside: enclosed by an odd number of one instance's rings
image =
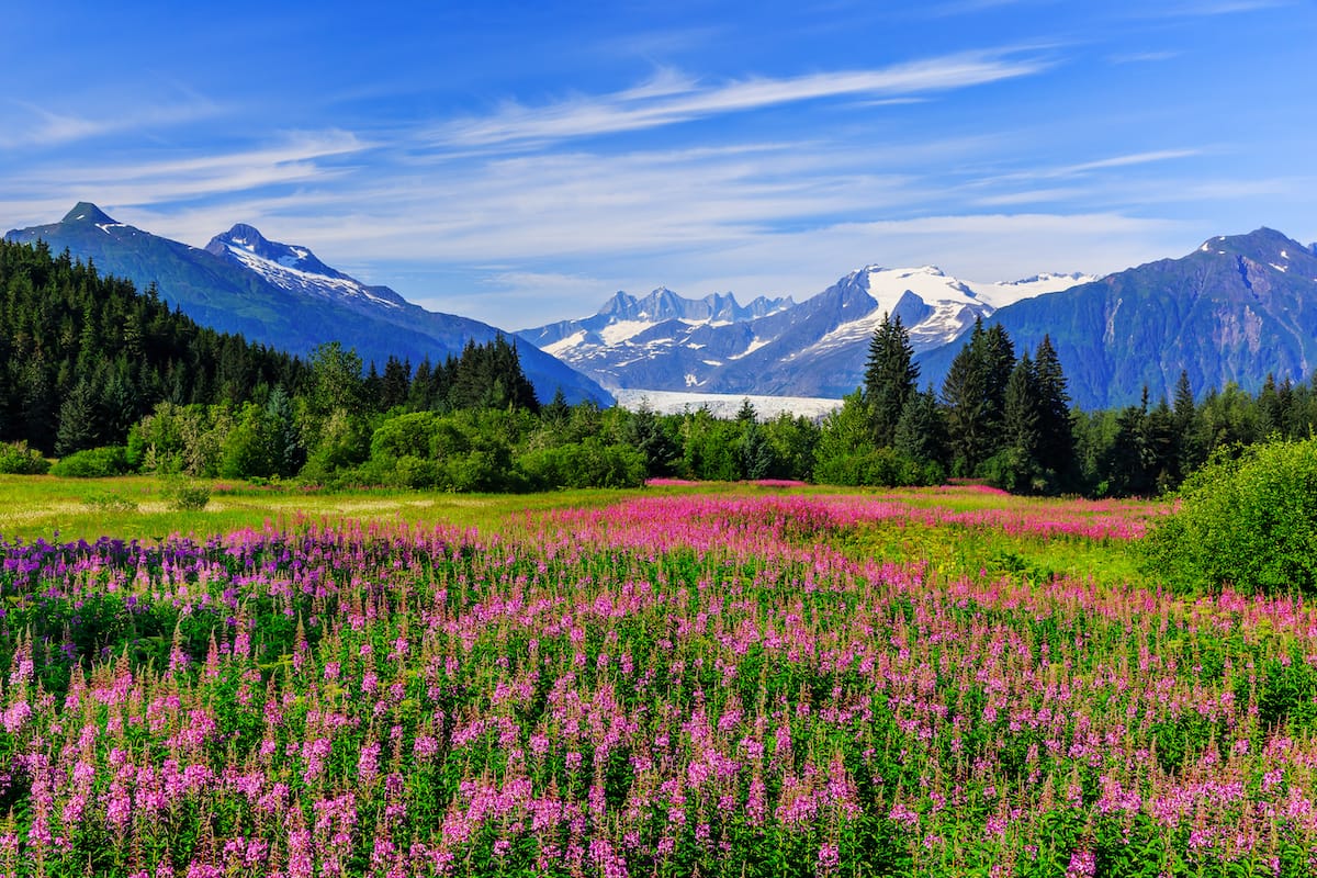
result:
[[(54, 253), (67, 249), (141, 290), (155, 284), (162, 299), (203, 325), (295, 354), (340, 341), (381, 369), (390, 355), (416, 366), (425, 357), (441, 362), (460, 354), (468, 341), (486, 342), (500, 332), (425, 311), (389, 287), (331, 269), (307, 247), (267, 241), (249, 225), (233, 226), (200, 250), (116, 222), (83, 201), (59, 222), (14, 229), (5, 238), (41, 240)], [(527, 378), (545, 401), (561, 387), (572, 401), (611, 403), (598, 383), (552, 355), (532, 345), (519, 351)]]

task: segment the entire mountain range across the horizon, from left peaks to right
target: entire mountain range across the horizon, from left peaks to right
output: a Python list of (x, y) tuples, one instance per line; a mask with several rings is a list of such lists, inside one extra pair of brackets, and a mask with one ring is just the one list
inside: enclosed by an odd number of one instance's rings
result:
[[(116, 222), (79, 203), (59, 222), (12, 230), (154, 284), (204, 325), (291, 353), (325, 341), (382, 366), (457, 354), (500, 332), (425, 311), (363, 284), (307, 247), (234, 225), (204, 249)], [(1271, 229), (1221, 236), (1180, 258), (1104, 278), (1040, 274), (1014, 283), (952, 278), (934, 266), (865, 266), (803, 301), (727, 294), (687, 299), (660, 287), (611, 296), (594, 315), (523, 329), (522, 365), (547, 399), (612, 401), (608, 390), (840, 398), (863, 382), (885, 313), (910, 332), (921, 384), (940, 387), (977, 320), (1001, 324), (1017, 353), (1052, 345), (1085, 409), (1169, 396), (1181, 373), (1196, 394), (1267, 375), (1306, 380), (1317, 367), (1317, 247)]]

